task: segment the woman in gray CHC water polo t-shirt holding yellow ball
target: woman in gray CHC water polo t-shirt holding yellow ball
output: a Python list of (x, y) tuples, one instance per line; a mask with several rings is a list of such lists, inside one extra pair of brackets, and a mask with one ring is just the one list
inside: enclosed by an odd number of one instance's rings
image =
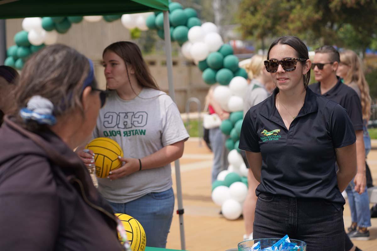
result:
[[(189, 134), (136, 44), (110, 44), (103, 52), (103, 66), (110, 94), (93, 138), (115, 140), (123, 149), (124, 165), (98, 178), (98, 190), (115, 213), (141, 223), (147, 246), (165, 248), (174, 208), (170, 163), (182, 156)], [(91, 155), (80, 156), (87, 156), (89, 166)]]

